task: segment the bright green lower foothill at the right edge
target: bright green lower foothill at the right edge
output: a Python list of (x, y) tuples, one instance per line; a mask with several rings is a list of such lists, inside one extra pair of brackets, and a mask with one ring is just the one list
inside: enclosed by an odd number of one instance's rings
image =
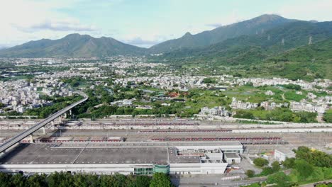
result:
[(262, 67), (270, 75), (292, 80), (332, 79), (332, 38), (269, 57)]

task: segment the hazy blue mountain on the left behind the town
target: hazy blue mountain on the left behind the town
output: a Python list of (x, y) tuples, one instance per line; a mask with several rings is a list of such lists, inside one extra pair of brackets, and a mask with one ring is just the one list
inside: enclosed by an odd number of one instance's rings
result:
[(0, 57), (105, 57), (142, 55), (145, 50), (114, 38), (70, 34), (58, 40), (42, 39), (0, 50)]

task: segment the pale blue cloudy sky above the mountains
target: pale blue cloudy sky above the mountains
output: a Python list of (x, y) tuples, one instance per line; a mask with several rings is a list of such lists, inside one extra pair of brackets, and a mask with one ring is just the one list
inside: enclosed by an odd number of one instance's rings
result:
[(0, 0), (0, 47), (70, 33), (140, 47), (265, 13), (332, 21), (332, 0)]

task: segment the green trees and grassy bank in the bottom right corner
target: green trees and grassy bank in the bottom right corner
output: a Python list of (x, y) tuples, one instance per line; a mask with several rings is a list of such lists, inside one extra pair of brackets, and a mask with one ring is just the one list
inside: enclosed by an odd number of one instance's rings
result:
[[(272, 167), (265, 166), (260, 174), (246, 171), (248, 177), (267, 176), (266, 183), (271, 186), (288, 187), (298, 184), (312, 183), (332, 179), (332, 155), (308, 147), (294, 149), (295, 158), (287, 158), (282, 162), (284, 171), (280, 171), (279, 162)], [(290, 171), (289, 171), (290, 170)], [(253, 183), (250, 186), (266, 186), (265, 183)]]

